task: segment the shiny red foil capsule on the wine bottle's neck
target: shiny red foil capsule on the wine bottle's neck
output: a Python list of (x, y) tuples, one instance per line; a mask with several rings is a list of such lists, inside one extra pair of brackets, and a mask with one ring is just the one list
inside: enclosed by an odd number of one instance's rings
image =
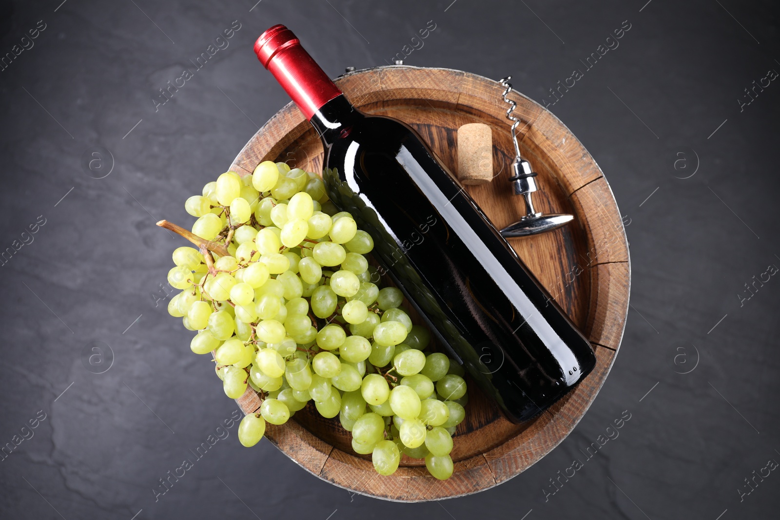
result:
[(261, 34), (254, 44), (254, 52), (306, 119), (311, 119), (322, 105), (342, 94), (301, 47), (293, 31), (283, 25), (275, 25)]

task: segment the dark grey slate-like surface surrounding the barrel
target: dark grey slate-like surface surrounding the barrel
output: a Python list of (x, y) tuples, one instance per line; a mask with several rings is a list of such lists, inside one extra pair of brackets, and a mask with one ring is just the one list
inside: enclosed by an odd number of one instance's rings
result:
[[(0, 54), (46, 24), (0, 72), (0, 250), (46, 219), (0, 267), (0, 443), (46, 414), (0, 462), (2, 518), (778, 518), (780, 475), (739, 491), (780, 461), (780, 281), (739, 297), (780, 266), (780, 85), (738, 101), (780, 71), (776, 2), (255, 1), (2, 2)], [(289, 101), (254, 39), (285, 23), (337, 76), (385, 65), (431, 19), (406, 63), (512, 74), (537, 101), (631, 24), (550, 107), (629, 224), (632, 307), (601, 393), (550, 455), (470, 497), (351, 496), (268, 441), (241, 447), (234, 427), (155, 502), (158, 479), (236, 409), (190, 332), (154, 305), (183, 245), (154, 222), (189, 225), (186, 197)], [(229, 48), (155, 111), (158, 89), (233, 20)], [(115, 163), (105, 179), (82, 165), (96, 147)], [(113, 352), (102, 374), (86, 368), (93, 341)], [(549, 479), (625, 410), (619, 437), (545, 501)]]

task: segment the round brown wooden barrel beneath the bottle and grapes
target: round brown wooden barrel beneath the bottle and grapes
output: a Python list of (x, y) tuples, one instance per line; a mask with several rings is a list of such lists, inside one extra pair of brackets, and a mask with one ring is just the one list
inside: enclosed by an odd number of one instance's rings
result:
[[(457, 129), (471, 122), (491, 126), (496, 177), (466, 190), (497, 228), (523, 216), (523, 201), (512, 196), (507, 180), (514, 150), (505, 119), (508, 105), (498, 82), (452, 69), (393, 65), (348, 73), (335, 83), (361, 110), (392, 116), (417, 129), (452, 172), (457, 168)], [(573, 430), (604, 384), (629, 305), (629, 253), (622, 218), (601, 169), (569, 129), (522, 94), (512, 91), (509, 98), (517, 102), (521, 151), (538, 173), (534, 206), (544, 213), (575, 215), (557, 231), (509, 242), (590, 339), (595, 369), (565, 398), (523, 425), (509, 423), (476, 384), (470, 384), (466, 419), (454, 437), (455, 471), (445, 481), (434, 479), (423, 461), (406, 455), (394, 475), (378, 475), (370, 455), (352, 451), (351, 434), (339, 419), (324, 419), (312, 405), (282, 426), (268, 424), (268, 440), (315, 476), (392, 501), (476, 493), (511, 479), (547, 455)], [(230, 169), (246, 175), (270, 160), (321, 172), (322, 159), (317, 133), (290, 103), (246, 143)], [(237, 401), (246, 413), (260, 407), (251, 388)]]

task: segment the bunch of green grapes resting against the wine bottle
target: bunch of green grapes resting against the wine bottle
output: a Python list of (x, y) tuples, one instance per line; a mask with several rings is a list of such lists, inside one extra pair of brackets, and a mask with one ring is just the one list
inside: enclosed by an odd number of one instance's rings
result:
[(406, 453), (449, 478), (468, 400), (463, 367), (427, 352), (430, 332), (412, 324), (398, 288), (379, 287), (371, 236), (337, 212), (321, 179), (265, 161), (243, 178), (223, 173), (185, 207), (193, 233), (229, 254), (176, 249), (168, 281), (182, 292), (168, 312), (198, 331), (193, 352), (214, 353), (228, 397), (247, 385), (260, 395), (240, 442), (257, 444), (267, 422), (314, 401), (381, 475)]

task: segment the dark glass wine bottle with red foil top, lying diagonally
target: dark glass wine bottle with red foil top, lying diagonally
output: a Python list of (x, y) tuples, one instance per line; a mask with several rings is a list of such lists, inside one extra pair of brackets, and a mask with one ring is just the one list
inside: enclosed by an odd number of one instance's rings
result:
[(321, 136), (332, 202), (507, 419), (532, 419), (593, 370), (590, 343), (417, 132), (354, 108), (283, 25), (254, 51)]

